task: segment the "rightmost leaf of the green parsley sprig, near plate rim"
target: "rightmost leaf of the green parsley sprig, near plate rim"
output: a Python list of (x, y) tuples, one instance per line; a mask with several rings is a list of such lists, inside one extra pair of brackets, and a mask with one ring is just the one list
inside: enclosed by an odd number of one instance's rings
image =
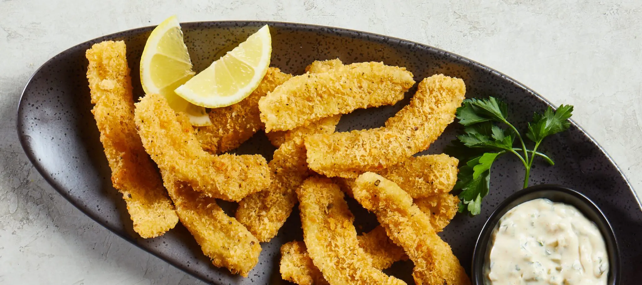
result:
[(531, 141), (540, 142), (548, 135), (568, 130), (571, 125), (568, 119), (571, 117), (572, 112), (573, 106), (560, 105), (554, 113), (551, 107), (546, 108), (543, 115), (535, 113), (533, 115), (533, 121), (528, 123), (526, 137)]

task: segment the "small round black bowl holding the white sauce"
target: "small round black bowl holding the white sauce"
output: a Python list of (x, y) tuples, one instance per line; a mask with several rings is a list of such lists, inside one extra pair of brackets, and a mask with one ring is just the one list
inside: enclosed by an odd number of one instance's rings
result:
[(492, 230), (497, 225), (499, 219), (506, 214), (510, 209), (515, 206), (535, 200), (538, 198), (546, 198), (553, 202), (562, 202), (575, 206), (586, 218), (593, 221), (598, 226), (604, 242), (606, 243), (607, 254), (609, 255), (609, 279), (608, 285), (618, 284), (620, 279), (620, 248), (618, 241), (613, 234), (611, 224), (606, 220), (606, 217), (600, 211), (600, 208), (593, 203), (593, 201), (586, 198), (584, 194), (579, 193), (573, 189), (559, 186), (555, 184), (542, 184), (531, 186), (526, 189), (517, 191), (515, 194), (510, 195), (504, 202), (501, 202), (497, 209), (495, 209), (483, 226), (480, 236), (477, 238), (475, 249), (473, 252), (473, 285), (483, 285), (483, 266), (487, 250), (490, 245), (490, 236)]

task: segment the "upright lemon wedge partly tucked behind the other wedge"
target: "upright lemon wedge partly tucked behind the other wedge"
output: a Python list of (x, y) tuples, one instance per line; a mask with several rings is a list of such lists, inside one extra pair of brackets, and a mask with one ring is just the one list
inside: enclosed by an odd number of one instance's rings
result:
[(141, 84), (147, 94), (161, 94), (176, 112), (184, 112), (195, 126), (212, 122), (204, 107), (178, 96), (174, 89), (194, 77), (192, 62), (176, 16), (162, 21), (147, 38), (141, 57)]

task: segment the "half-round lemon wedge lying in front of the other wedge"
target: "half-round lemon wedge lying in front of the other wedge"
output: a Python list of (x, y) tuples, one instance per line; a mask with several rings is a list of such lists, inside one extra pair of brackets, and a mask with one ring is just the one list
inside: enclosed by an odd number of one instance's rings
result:
[(238, 103), (261, 83), (270, 66), (272, 37), (267, 25), (196, 74), (175, 92), (194, 105), (218, 108)]

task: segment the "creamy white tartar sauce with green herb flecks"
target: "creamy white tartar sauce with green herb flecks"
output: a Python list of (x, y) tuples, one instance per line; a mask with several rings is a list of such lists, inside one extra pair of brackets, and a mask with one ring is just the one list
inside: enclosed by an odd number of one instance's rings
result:
[(577, 208), (535, 199), (510, 209), (492, 231), (485, 284), (607, 284), (602, 234)]

